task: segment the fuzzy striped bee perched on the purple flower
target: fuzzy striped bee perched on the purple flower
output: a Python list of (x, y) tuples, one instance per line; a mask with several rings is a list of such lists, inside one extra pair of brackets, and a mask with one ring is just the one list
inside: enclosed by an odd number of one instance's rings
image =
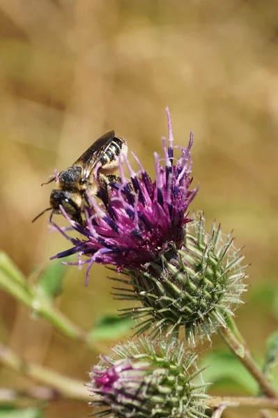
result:
[(114, 176), (118, 168), (117, 157), (123, 161), (123, 155), (127, 154), (127, 142), (115, 137), (114, 130), (102, 135), (68, 169), (49, 176), (42, 184), (56, 180), (57, 187), (50, 194), (50, 207), (40, 212), (32, 222), (47, 210), (52, 210), (51, 220), (54, 213), (61, 213), (62, 206), (71, 219), (83, 224), (82, 212), (90, 206), (86, 192), (96, 196), (100, 185), (107, 189), (111, 180), (117, 181), (117, 176)]

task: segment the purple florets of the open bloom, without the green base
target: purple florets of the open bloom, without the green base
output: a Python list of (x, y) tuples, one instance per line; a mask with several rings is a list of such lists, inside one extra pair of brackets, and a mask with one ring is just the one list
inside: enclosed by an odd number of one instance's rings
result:
[[(124, 268), (145, 270), (148, 263), (158, 262), (169, 246), (180, 248), (183, 245), (184, 226), (190, 221), (187, 208), (197, 192), (197, 189), (190, 190), (193, 135), (190, 134), (187, 148), (176, 147), (180, 156), (175, 159), (168, 109), (167, 116), (169, 147), (167, 149), (164, 139), (164, 158), (160, 160), (155, 153), (155, 181), (151, 180), (135, 155), (139, 172), (134, 173), (125, 158), (130, 172), (130, 178), (125, 178), (119, 160), (121, 185), (111, 182), (109, 196), (107, 190), (100, 185), (100, 202), (88, 196), (91, 208), (86, 210), (84, 225), (68, 218), (72, 228), (84, 238), (67, 237), (74, 247), (53, 258), (78, 253), (79, 261), (76, 264), (80, 266), (88, 263), (86, 283), (93, 263), (116, 265), (118, 271)], [(68, 217), (63, 208), (61, 211)], [(81, 260), (80, 256), (86, 259)]]

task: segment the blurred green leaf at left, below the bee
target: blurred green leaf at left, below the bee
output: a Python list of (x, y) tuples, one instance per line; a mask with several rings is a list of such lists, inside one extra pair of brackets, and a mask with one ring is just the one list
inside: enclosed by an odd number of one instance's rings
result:
[(60, 260), (52, 261), (40, 274), (37, 291), (43, 297), (54, 299), (62, 292), (63, 278), (68, 266), (61, 264)]

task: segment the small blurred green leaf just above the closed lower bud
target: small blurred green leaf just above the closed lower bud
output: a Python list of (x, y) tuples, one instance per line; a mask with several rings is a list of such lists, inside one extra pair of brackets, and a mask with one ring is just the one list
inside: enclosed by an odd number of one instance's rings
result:
[(131, 318), (120, 318), (117, 315), (102, 316), (93, 330), (88, 332), (88, 336), (94, 341), (114, 339), (126, 334), (133, 323)]

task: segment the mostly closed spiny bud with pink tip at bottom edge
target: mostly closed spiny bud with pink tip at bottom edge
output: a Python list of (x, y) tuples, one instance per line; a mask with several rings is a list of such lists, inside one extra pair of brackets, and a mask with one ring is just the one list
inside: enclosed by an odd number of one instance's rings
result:
[(148, 338), (116, 346), (90, 373), (98, 417), (206, 417), (206, 384), (183, 343)]

